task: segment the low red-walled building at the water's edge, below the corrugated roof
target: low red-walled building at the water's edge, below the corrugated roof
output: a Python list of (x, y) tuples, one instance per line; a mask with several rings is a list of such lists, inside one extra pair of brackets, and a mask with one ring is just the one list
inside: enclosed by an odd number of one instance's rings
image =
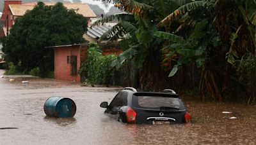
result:
[[(50, 46), (54, 50), (54, 77), (65, 81), (81, 82), (78, 73), (81, 63), (86, 60), (90, 44)], [(118, 43), (99, 44), (103, 55), (119, 55), (122, 49)]]

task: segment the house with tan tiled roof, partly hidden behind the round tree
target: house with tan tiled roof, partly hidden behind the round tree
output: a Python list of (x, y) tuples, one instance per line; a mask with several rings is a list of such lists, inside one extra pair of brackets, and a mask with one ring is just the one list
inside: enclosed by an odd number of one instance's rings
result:
[[(45, 3), (47, 6), (53, 6), (56, 3)], [(97, 17), (93, 13), (88, 4), (85, 3), (63, 3), (63, 5), (69, 10), (75, 10), (76, 13), (83, 15), (88, 20), (88, 24), (91, 22), (91, 18)], [(22, 3), (21, 0), (4, 0), (4, 10), (1, 17), (3, 23), (3, 29), (0, 30), (0, 37), (8, 36), (10, 29), (15, 24), (15, 20), (18, 17), (22, 17), (26, 11), (33, 10), (36, 3)]]

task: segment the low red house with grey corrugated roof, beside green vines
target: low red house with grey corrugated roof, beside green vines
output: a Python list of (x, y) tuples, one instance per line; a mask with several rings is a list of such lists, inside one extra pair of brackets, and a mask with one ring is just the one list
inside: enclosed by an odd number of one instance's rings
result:
[[(99, 18), (92, 18), (91, 20), (95, 21), (99, 20)], [(117, 23), (104, 23), (93, 27), (90, 27), (89, 24), (83, 38), (90, 41), (90, 43), (97, 43), (98, 39), (116, 24)], [(78, 71), (81, 63), (86, 61), (89, 46), (90, 44), (87, 43), (48, 47), (54, 50), (54, 78), (65, 81), (83, 81), (84, 78), (80, 76)], [(103, 43), (99, 43), (99, 46), (103, 55), (119, 55), (123, 52), (118, 42), (104, 43), (103, 41)]]

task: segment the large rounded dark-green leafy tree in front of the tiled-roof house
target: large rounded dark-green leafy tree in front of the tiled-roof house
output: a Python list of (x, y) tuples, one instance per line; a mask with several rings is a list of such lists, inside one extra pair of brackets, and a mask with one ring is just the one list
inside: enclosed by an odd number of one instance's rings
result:
[(54, 69), (54, 57), (53, 50), (45, 47), (84, 43), (86, 28), (86, 18), (67, 10), (62, 3), (38, 3), (15, 21), (10, 35), (4, 39), (5, 60), (13, 62), (18, 72), (46, 76)]

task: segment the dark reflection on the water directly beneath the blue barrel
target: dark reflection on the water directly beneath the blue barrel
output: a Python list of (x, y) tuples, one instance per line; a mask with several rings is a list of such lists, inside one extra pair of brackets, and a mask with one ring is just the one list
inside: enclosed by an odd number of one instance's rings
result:
[(68, 125), (72, 125), (73, 123), (76, 123), (76, 118), (55, 118), (55, 117), (45, 116), (44, 120), (56, 123), (61, 127), (66, 127)]

